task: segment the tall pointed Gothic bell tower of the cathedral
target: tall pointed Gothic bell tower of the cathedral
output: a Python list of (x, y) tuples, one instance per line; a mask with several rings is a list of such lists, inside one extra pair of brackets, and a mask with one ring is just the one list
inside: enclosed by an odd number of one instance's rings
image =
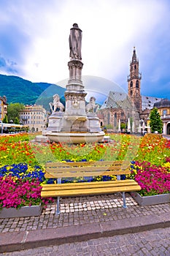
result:
[(139, 73), (139, 59), (136, 58), (134, 47), (133, 56), (130, 61), (130, 75), (128, 75), (128, 96), (134, 103), (138, 113), (142, 112), (141, 78), (142, 75)]

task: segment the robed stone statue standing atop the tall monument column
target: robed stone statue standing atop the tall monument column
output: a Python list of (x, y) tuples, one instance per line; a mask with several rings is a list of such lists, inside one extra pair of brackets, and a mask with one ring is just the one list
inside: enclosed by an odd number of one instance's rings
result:
[(78, 27), (77, 23), (74, 23), (73, 28), (70, 29), (69, 48), (71, 59), (82, 59), (82, 30)]

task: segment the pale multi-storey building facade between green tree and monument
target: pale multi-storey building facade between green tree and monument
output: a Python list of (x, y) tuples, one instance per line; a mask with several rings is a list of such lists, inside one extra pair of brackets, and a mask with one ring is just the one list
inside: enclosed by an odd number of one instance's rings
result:
[(26, 105), (20, 111), (20, 124), (27, 126), (31, 132), (42, 132), (47, 124), (45, 108), (42, 105)]

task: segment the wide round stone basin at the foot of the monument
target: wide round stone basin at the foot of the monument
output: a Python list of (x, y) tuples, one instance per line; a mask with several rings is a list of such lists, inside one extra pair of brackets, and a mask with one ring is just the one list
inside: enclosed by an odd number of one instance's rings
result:
[(104, 138), (104, 132), (47, 132), (50, 141), (66, 143), (93, 143)]

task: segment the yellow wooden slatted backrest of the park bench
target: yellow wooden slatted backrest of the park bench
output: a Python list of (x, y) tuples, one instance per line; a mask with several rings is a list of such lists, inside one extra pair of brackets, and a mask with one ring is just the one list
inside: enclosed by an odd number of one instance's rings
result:
[(69, 178), (130, 174), (128, 161), (47, 162), (45, 178)]

